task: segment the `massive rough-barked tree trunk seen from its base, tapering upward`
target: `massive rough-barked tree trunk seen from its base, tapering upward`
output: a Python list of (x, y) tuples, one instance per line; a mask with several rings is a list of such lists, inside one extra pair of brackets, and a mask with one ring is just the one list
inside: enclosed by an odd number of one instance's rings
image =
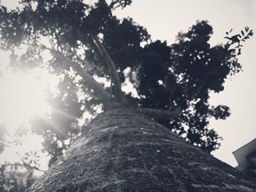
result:
[(233, 167), (130, 110), (98, 115), (28, 191), (255, 191)]

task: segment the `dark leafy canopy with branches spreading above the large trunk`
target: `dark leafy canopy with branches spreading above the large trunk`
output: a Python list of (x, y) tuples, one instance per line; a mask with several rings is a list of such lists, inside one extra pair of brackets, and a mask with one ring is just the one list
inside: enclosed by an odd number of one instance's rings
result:
[[(113, 15), (131, 0), (89, 2), (22, 0), (19, 9), (0, 7), (1, 49), (11, 50), (12, 70), (44, 67), (60, 79), (58, 93), (48, 91), (50, 119), (31, 121), (31, 130), (45, 139), (50, 164), (90, 118), (115, 104), (149, 115), (208, 153), (216, 150), (221, 137), (209, 118), (225, 119), (230, 110), (211, 106), (209, 93), (223, 91), (225, 79), (241, 71), (238, 55), (252, 30), (229, 31), (226, 42), (211, 46), (213, 28), (201, 20), (167, 45), (152, 41), (132, 18)], [(15, 51), (20, 46), (26, 47), (22, 54)], [(133, 91), (122, 91), (126, 82)], [(0, 131), (3, 150), (7, 130)]]

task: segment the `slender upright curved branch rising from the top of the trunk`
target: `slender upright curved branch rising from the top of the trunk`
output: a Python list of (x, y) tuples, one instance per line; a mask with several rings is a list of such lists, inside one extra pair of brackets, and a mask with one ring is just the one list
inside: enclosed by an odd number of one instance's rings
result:
[(105, 60), (108, 69), (110, 70), (111, 84), (113, 84), (113, 96), (115, 96), (118, 100), (123, 100), (124, 93), (123, 91), (121, 91), (121, 82), (118, 77), (116, 65), (114, 64), (113, 59), (108, 54), (108, 51), (105, 49), (104, 45), (99, 42), (99, 39), (97, 37), (91, 36), (91, 38), (96, 47), (98, 48), (100, 55), (102, 55), (102, 58)]

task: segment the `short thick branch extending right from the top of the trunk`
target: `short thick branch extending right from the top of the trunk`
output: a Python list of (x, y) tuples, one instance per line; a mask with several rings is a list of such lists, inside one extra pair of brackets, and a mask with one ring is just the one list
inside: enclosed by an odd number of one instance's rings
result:
[(150, 108), (138, 108), (139, 112), (147, 115), (150, 118), (154, 118), (155, 120), (167, 120), (170, 118), (176, 118), (181, 113), (181, 107), (176, 107), (176, 110), (158, 110), (158, 109), (150, 109)]

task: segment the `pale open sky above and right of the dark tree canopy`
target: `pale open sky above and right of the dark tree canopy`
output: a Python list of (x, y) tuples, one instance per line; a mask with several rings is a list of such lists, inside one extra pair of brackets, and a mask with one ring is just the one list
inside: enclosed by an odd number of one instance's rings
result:
[[(1, 0), (9, 7), (18, 6), (17, 0)], [(214, 28), (211, 45), (224, 42), (225, 31), (233, 33), (244, 26), (256, 33), (256, 0), (133, 0), (132, 6), (115, 13), (118, 18), (129, 16), (147, 28), (153, 40), (174, 42), (178, 31), (187, 31), (196, 20), (208, 20)], [(225, 82), (225, 91), (211, 96), (211, 104), (226, 104), (231, 115), (227, 120), (212, 120), (224, 140), (214, 155), (236, 166), (232, 152), (256, 137), (256, 34), (246, 41), (239, 58), (244, 72)], [(3, 62), (3, 61), (1, 61)]]

